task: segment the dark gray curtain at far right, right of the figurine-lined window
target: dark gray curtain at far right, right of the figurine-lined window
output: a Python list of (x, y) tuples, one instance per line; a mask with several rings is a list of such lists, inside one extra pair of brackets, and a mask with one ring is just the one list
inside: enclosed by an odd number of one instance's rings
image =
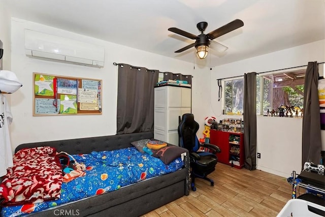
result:
[(302, 132), (302, 168), (311, 160), (320, 162), (320, 111), (318, 101), (318, 64), (309, 62), (305, 76), (304, 116)]

